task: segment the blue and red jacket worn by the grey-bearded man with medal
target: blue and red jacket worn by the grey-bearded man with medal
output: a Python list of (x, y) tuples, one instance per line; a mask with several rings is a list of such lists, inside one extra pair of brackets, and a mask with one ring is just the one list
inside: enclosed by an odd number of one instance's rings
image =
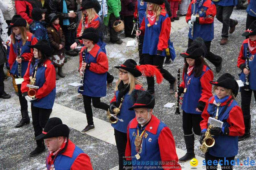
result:
[[(147, 137), (145, 137), (145, 135), (143, 136), (142, 152), (139, 154), (140, 159), (137, 160), (134, 157), (137, 155), (137, 152), (135, 151), (135, 136), (133, 136), (133, 133), (135, 132), (136, 135), (141, 135), (144, 129), (145, 133), (148, 135)], [(138, 130), (139, 134), (137, 134)], [(134, 167), (140, 166), (138, 162), (141, 161), (144, 161), (145, 163), (142, 165), (143, 167), (145, 167), (146, 161), (148, 161), (148, 163), (153, 161), (154, 163), (157, 162), (157, 165), (154, 164), (157, 167), (156, 169), (181, 170), (181, 166), (178, 163), (178, 157), (176, 154), (175, 142), (172, 136), (172, 132), (154, 115), (152, 115), (150, 122), (143, 129), (139, 128), (136, 118), (131, 120), (127, 127), (127, 139), (125, 156), (127, 160), (137, 162), (135, 165), (133, 165)], [(161, 161), (164, 161), (164, 163), (168, 162), (169, 164), (163, 163), (163, 165), (159, 165), (159, 162)], [(148, 166), (150, 166), (150, 164), (148, 164)], [(158, 168), (158, 166), (160, 166), (160, 168)]]

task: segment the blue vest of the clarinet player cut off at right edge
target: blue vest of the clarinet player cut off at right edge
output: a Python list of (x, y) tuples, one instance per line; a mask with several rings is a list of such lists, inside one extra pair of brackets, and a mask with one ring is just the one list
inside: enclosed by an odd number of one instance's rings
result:
[[(248, 47), (248, 39), (247, 39), (247, 43), (243, 43), (243, 58), (245, 59), (245, 65), (246, 65), (246, 48)], [(252, 55), (250, 50), (249, 50), (249, 70), (250, 70), (250, 74), (248, 77), (249, 80), (249, 88), (251, 90), (256, 90), (256, 59), (255, 59), (255, 55)], [(245, 74), (243, 73), (243, 71), (241, 71), (241, 73), (239, 74), (239, 80), (242, 80), (243, 82), (246, 82), (245, 80)]]

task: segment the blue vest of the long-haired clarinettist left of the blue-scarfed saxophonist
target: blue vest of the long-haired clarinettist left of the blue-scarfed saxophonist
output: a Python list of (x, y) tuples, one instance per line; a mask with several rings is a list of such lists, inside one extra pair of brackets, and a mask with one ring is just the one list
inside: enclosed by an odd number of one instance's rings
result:
[[(185, 88), (187, 88), (187, 91), (186, 93), (184, 93), (181, 109), (186, 113), (192, 113), (192, 114), (202, 113), (202, 112), (197, 112), (195, 108), (197, 107), (198, 101), (201, 98), (201, 94), (202, 94), (202, 86), (201, 86), (200, 79), (205, 74), (205, 72), (208, 71), (209, 69), (210, 68), (206, 67), (206, 70), (202, 71), (202, 74), (199, 77), (194, 76), (194, 73), (195, 73), (194, 71), (190, 74), (190, 76), (188, 74), (184, 75), (183, 81), (185, 82)], [(187, 82), (189, 81), (189, 79), (190, 79), (190, 83), (187, 86)]]

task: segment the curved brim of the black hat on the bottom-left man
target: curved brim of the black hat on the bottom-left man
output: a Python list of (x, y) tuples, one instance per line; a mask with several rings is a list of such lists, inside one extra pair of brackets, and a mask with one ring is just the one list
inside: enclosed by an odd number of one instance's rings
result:
[(55, 127), (53, 127), (49, 132), (46, 134), (42, 133), (35, 137), (35, 140), (42, 140), (42, 139), (47, 139), (51, 137), (58, 137), (58, 136), (69, 136), (69, 127), (65, 124), (60, 124)]

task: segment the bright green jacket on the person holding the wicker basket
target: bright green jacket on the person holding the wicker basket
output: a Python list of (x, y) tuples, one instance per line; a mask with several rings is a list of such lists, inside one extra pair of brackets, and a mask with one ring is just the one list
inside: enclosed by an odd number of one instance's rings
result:
[(118, 18), (119, 12), (121, 11), (120, 0), (107, 0), (108, 5), (108, 16), (104, 17), (104, 25), (108, 26), (110, 14), (114, 14), (115, 18)]

